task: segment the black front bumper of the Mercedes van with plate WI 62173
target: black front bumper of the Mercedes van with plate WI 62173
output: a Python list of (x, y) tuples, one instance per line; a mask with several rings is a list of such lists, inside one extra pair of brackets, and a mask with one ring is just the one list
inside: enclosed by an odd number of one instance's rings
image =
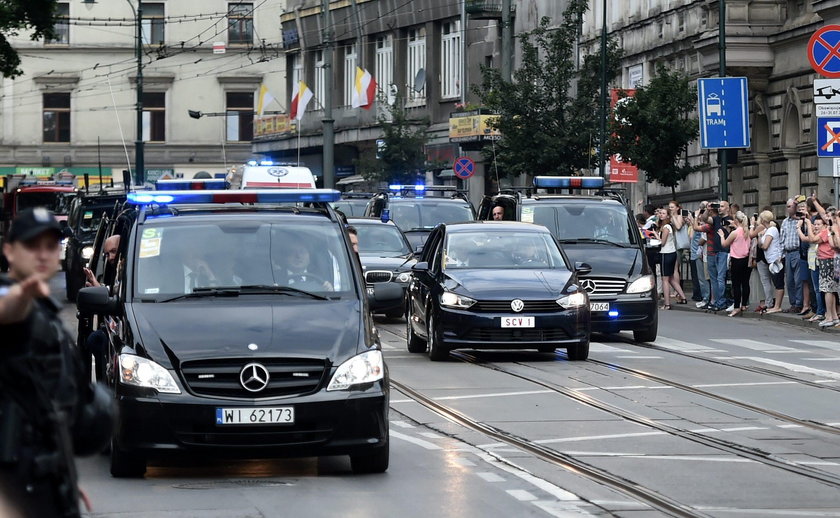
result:
[[(115, 439), (122, 450), (147, 459), (174, 455), (222, 458), (352, 455), (388, 439), (385, 380), (349, 391), (261, 400), (155, 394), (119, 386)], [(293, 406), (294, 424), (217, 425), (216, 408)]]

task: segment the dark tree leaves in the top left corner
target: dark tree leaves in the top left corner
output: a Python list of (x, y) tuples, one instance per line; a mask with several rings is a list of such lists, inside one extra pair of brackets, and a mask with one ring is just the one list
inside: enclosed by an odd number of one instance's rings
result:
[(17, 77), (20, 56), (9, 42), (9, 37), (20, 31), (31, 30), (31, 38), (54, 38), (57, 0), (3, 0), (0, 2), (0, 74), (3, 77)]

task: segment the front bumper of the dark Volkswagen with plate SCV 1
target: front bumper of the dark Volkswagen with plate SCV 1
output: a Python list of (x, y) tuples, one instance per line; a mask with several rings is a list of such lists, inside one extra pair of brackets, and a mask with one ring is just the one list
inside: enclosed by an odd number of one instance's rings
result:
[[(532, 328), (503, 328), (503, 317), (534, 317)], [(563, 348), (589, 340), (587, 309), (555, 313), (477, 313), (440, 308), (438, 324), (451, 348), (526, 349), (554, 345)]]

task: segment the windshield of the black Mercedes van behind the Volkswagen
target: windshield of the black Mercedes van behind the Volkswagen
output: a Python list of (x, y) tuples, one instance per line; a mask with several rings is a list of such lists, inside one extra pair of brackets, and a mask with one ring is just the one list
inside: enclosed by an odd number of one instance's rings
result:
[(523, 205), (522, 221), (543, 225), (561, 243), (583, 240), (630, 245), (638, 234), (638, 229), (630, 227), (623, 205), (602, 202)]

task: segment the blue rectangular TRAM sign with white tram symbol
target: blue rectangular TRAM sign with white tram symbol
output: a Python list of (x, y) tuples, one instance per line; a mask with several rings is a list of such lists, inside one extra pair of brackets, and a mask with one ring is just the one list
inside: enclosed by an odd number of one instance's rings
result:
[(746, 77), (698, 79), (697, 95), (703, 149), (750, 147)]

